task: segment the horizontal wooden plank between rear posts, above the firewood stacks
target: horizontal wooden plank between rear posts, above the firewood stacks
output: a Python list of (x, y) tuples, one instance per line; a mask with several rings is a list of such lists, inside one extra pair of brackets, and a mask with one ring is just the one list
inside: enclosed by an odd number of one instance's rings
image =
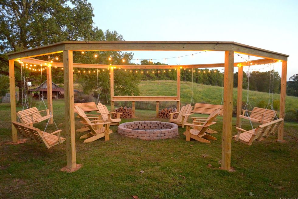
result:
[(177, 96), (114, 96), (112, 101), (179, 101)]

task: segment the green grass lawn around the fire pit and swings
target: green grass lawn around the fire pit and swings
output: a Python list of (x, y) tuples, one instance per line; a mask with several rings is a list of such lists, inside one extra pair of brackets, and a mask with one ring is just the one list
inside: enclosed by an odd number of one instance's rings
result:
[[(182, 89), (185, 87), (182, 85)], [(183, 92), (182, 92), (183, 93)], [(185, 93), (185, 92), (184, 92)], [(198, 97), (200, 95), (197, 95)], [(64, 101), (54, 101), (54, 120), (64, 130)], [(20, 107), (17, 107), (20, 110)], [(133, 120), (157, 120), (155, 111), (137, 110)], [(195, 115), (200, 116), (200, 115)], [(110, 141), (83, 144), (76, 133), (74, 173), (66, 165), (65, 143), (50, 149), (34, 141), (11, 145), (10, 107), (0, 104), (0, 198), (280, 198), (298, 196), (297, 123), (285, 123), (284, 143), (276, 135), (252, 146), (232, 141), (235, 172), (218, 169), (222, 118), (213, 129), (217, 141), (203, 144), (178, 137), (143, 141), (116, 133)], [(162, 120), (166, 121), (166, 120)], [(36, 124), (44, 129), (46, 121)], [(235, 118), (233, 118), (233, 125)], [(76, 128), (82, 124), (75, 121)], [(244, 123), (245, 129), (250, 128)], [(54, 131), (54, 125), (48, 127)], [(236, 134), (233, 126), (233, 134)], [(62, 131), (62, 136), (65, 132)], [(211, 164), (211, 167), (208, 167)], [(144, 173), (140, 173), (144, 170)], [(296, 187), (296, 188), (295, 188)]]

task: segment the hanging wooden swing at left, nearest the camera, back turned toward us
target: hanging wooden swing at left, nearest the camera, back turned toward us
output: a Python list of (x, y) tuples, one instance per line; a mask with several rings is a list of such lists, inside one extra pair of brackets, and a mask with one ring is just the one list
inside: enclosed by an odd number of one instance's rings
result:
[[(41, 131), (36, 127), (32, 127), (26, 124), (22, 124), (16, 121), (13, 121), (12, 124), (16, 127), (17, 131), (26, 138), (31, 138), (39, 143), (44, 143), (47, 148), (51, 148), (57, 144), (61, 144), (66, 139), (60, 136), (62, 130), (54, 131), (53, 133), (47, 133)], [(55, 135), (57, 134), (57, 135)]]

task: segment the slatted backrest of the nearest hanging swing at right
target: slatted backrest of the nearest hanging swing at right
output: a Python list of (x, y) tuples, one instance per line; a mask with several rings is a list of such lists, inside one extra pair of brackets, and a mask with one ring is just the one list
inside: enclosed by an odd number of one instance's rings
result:
[(277, 119), (272, 122), (268, 122), (266, 124), (259, 125), (257, 128), (255, 128), (255, 135), (251, 137), (248, 144), (251, 144), (254, 140), (260, 140), (262, 137), (268, 137), (269, 134), (274, 134), (275, 131), (278, 130), (280, 124), (282, 124), (283, 119)]

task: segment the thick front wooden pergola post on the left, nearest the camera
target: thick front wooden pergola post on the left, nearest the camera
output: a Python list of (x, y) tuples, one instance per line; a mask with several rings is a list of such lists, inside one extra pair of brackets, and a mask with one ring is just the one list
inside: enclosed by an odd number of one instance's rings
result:
[(72, 51), (63, 51), (66, 158), (70, 169), (76, 168), (75, 113)]

